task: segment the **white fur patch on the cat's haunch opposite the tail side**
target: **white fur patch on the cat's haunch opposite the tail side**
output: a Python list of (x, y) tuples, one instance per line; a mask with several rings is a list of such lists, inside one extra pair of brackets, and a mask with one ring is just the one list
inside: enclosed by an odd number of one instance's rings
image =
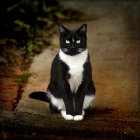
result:
[(84, 99), (84, 104), (83, 104), (83, 109), (86, 109), (88, 107), (91, 106), (91, 104), (93, 103), (95, 96), (94, 95), (86, 95), (85, 99)]

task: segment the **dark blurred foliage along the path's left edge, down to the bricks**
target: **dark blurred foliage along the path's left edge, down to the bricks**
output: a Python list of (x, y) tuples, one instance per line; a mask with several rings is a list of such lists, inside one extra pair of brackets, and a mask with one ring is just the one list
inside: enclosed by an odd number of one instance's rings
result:
[[(77, 11), (65, 9), (57, 0), (2, 1), (0, 3), (0, 73), (2, 77), (7, 77), (7, 71), (10, 72), (8, 76), (19, 86), (18, 93), (23, 92), (22, 87), (31, 75), (27, 69), (34, 55), (40, 53), (45, 46), (49, 46), (49, 38), (56, 33), (52, 27), (63, 21), (78, 20), (79, 17)], [(11, 70), (16, 73), (16, 68), (24, 72), (12, 77)], [(18, 96), (20, 99), (20, 94)]]

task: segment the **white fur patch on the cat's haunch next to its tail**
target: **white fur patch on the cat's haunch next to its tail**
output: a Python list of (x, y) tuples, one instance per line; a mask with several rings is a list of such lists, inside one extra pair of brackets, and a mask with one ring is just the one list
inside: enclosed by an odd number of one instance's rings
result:
[(47, 92), (48, 97), (51, 100), (51, 103), (56, 106), (59, 110), (65, 109), (64, 101), (60, 98), (55, 98), (50, 92)]

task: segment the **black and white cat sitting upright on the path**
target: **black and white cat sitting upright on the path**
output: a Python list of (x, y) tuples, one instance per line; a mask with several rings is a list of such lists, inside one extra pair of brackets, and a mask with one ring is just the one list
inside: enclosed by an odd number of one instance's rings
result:
[(83, 120), (95, 96), (87, 49), (87, 25), (69, 30), (59, 25), (60, 51), (52, 63), (47, 93), (33, 92), (31, 98), (49, 102), (53, 113), (65, 120)]

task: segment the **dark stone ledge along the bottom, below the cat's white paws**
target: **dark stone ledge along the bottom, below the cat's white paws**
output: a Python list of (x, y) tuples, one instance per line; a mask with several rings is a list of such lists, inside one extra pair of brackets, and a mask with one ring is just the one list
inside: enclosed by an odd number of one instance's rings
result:
[(5, 133), (8, 137), (29, 136), (30, 139), (37, 137), (66, 137), (75, 138), (140, 138), (140, 122), (127, 122), (117, 120), (97, 120), (88, 118), (81, 122), (65, 121), (59, 114), (46, 116), (23, 113), (0, 111), (1, 136)]

